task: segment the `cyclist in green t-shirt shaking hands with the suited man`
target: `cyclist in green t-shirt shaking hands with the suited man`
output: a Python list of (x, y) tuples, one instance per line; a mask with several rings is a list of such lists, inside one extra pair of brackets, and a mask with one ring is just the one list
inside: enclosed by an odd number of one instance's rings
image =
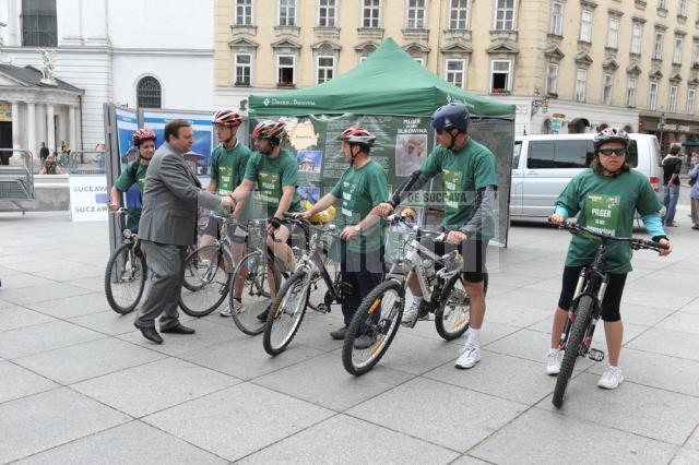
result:
[[(298, 184), (298, 164), (296, 157), (281, 144), (286, 136), (285, 123), (266, 120), (252, 131), (254, 152), (245, 170), (245, 177), (233, 193), (236, 200), (234, 217), (242, 215), (247, 200), (256, 187), (262, 217), (266, 222), (266, 247), (273, 257), (279, 258), (287, 270), (295, 266), (294, 253), (286, 243), (289, 238), (288, 228), (282, 224), (285, 212), (300, 212), (300, 203), (296, 187)], [(274, 281), (274, 262), (270, 271), (270, 295), (272, 301), (276, 297)], [(264, 314), (260, 315), (260, 319)]]

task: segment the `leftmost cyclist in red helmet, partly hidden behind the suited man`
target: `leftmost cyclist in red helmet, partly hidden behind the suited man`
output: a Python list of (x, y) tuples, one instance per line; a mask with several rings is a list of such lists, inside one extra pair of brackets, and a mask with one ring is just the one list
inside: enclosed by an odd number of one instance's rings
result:
[[(141, 192), (141, 202), (143, 202), (143, 190), (145, 189), (145, 172), (149, 169), (149, 163), (155, 154), (156, 136), (150, 129), (139, 129), (133, 133), (133, 145), (137, 147), (137, 156), (133, 162), (129, 162), (121, 171), (121, 175), (114, 181), (110, 192), (109, 210), (119, 210), (121, 205), (122, 194), (138, 182)], [(142, 205), (132, 205), (129, 207), (129, 219), (127, 228), (133, 233), (139, 231), (139, 220), (141, 219)]]

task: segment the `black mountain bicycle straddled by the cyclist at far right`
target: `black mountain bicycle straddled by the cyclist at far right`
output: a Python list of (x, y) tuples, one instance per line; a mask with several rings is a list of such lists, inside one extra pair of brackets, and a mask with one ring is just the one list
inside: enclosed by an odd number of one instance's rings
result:
[(560, 408), (564, 405), (564, 397), (572, 370), (578, 357), (588, 357), (594, 361), (604, 360), (604, 351), (591, 348), (592, 335), (600, 321), (601, 303), (607, 288), (609, 275), (603, 271), (606, 263), (607, 253), (618, 243), (628, 242), (633, 250), (665, 250), (667, 246), (648, 239), (633, 237), (615, 237), (600, 233), (594, 229), (579, 226), (574, 223), (564, 223), (559, 228), (567, 229), (574, 235), (590, 235), (600, 238), (592, 263), (582, 269), (578, 285), (573, 294), (572, 305), (568, 312), (566, 326), (560, 335), (559, 348), (564, 350), (564, 358), (560, 362), (560, 372), (556, 379), (553, 404)]

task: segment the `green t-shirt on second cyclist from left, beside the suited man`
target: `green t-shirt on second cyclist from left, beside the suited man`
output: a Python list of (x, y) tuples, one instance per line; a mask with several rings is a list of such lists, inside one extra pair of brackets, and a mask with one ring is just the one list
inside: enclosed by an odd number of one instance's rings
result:
[[(246, 167), (252, 151), (240, 141), (236, 142), (236, 146), (232, 151), (226, 151), (223, 144), (218, 144), (211, 154), (211, 178), (216, 180), (216, 193), (226, 195), (235, 191), (242, 181)], [(241, 220), (252, 219), (252, 199), (248, 198), (248, 202), (240, 215)]]

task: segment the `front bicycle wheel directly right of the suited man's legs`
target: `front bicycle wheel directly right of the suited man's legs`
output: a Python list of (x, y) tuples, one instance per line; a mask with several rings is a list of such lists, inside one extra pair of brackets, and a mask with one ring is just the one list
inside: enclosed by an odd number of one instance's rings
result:
[(185, 259), (179, 306), (190, 317), (216, 310), (228, 295), (233, 260), (217, 246), (201, 247)]

